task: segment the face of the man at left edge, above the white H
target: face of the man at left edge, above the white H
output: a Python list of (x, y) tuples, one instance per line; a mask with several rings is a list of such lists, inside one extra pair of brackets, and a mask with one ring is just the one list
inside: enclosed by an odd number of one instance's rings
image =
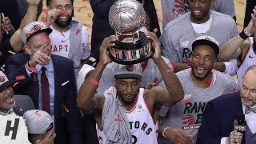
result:
[(14, 106), (14, 90), (12, 86), (8, 86), (0, 91), (0, 111), (6, 113)]

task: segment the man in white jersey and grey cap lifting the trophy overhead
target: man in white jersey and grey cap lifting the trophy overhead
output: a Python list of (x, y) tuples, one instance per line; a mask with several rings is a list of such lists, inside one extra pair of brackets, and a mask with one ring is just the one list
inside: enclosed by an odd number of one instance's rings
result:
[(183, 97), (182, 86), (174, 69), (170, 69), (161, 56), (161, 45), (156, 34), (148, 32), (146, 37), (152, 40), (152, 59), (162, 74), (166, 89), (160, 86), (154, 86), (151, 90), (140, 88), (142, 66), (119, 64), (114, 72), (114, 86), (104, 94), (96, 94), (102, 71), (111, 62), (106, 49), (114, 46), (117, 40), (115, 35), (111, 35), (103, 40), (98, 65), (78, 92), (78, 106), (86, 114), (95, 111), (102, 114), (106, 143), (157, 143), (155, 122), (159, 110), (156, 110), (156, 106), (173, 106)]

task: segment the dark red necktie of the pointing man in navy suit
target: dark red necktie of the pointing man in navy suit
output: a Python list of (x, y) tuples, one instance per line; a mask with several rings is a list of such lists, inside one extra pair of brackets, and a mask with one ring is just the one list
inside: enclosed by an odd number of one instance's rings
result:
[(42, 66), (41, 71), (42, 110), (50, 114), (50, 90), (48, 78), (46, 77), (46, 67)]

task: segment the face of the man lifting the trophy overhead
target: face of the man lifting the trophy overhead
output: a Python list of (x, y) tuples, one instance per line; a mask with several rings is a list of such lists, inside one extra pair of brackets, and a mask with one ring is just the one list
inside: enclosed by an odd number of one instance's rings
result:
[(133, 105), (136, 102), (140, 86), (141, 80), (139, 79), (115, 79), (118, 97), (125, 106)]

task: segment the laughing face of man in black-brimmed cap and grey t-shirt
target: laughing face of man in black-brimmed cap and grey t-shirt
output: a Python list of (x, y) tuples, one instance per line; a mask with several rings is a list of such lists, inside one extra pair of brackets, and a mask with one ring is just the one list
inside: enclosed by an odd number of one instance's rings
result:
[(216, 62), (216, 55), (210, 46), (198, 45), (194, 48), (191, 59), (191, 69), (194, 78), (210, 79), (210, 72)]

